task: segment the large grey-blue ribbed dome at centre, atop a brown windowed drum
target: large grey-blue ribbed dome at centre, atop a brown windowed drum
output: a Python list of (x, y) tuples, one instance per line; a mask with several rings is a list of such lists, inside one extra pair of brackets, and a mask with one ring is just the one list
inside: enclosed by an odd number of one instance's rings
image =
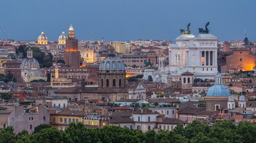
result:
[(99, 70), (125, 70), (125, 64), (115, 54), (109, 54), (101, 61)]

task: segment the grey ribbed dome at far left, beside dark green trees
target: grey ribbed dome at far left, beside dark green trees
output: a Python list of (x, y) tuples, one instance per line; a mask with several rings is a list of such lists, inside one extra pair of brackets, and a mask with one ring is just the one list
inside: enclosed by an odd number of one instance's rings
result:
[(23, 70), (31, 70), (31, 69), (40, 69), (40, 65), (35, 58), (25, 58), (22, 61), (21, 69)]

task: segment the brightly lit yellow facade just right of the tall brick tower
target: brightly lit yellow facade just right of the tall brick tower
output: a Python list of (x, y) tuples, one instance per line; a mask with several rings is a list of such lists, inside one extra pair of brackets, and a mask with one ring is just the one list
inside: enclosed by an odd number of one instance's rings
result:
[(86, 63), (95, 63), (97, 61), (97, 52), (94, 52), (93, 49), (83, 49), (80, 55)]

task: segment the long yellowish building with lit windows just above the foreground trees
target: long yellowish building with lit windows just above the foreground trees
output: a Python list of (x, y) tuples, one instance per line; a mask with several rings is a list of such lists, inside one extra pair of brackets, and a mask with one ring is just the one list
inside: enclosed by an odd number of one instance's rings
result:
[(50, 125), (64, 130), (70, 123), (83, 123), (87, 128), (103, 128), (109, 125), (108, 119), (105, 117), (98, 117), (99, 114), (86, 113), (85, 111), (71, 111), (64, 110), (59, 113), (56, 110), (50, 112)]

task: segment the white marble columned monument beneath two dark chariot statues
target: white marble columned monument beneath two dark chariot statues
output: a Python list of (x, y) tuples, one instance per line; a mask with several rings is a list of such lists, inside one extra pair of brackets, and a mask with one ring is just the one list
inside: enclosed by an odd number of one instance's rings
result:
[(189, 71), (197, 78), (213, 79), (218, 73), (217, 43), (218, 38), (211, 34), (180, 35), (176, 43), (170, 44), (168, 70), (173, 74)]

